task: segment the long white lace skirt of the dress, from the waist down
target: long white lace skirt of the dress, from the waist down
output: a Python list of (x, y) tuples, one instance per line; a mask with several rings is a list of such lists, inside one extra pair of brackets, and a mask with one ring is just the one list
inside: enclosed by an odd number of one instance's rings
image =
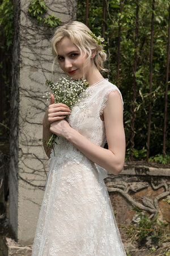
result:
[(126, 255), (104, 175), (84, 155), (62, 156), (50, 157), (32, 256)]

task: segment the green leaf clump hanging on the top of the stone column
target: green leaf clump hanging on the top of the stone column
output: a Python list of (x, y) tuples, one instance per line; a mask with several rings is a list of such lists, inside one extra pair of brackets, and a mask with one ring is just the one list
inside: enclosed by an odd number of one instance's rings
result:
[(49, 15), (46, 18), (42, 18), (42, 15), (46, 13), (48, 7), (44, 0), (33, 0), (28, 9), (28, 13), (31, 17), (36, 18), (37, 22), (41, 24), (42, 22), (47, 26), (54, 28), (61, 24), (61, 19), (57, 18), (55, 15)]

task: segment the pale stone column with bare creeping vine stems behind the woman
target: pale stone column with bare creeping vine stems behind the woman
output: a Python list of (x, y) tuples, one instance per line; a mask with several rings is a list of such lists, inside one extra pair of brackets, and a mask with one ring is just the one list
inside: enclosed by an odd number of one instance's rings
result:
[[(12, 54), (9, 224), (19, 245), (31, 245), (35, 236), (49, 167), (42, 148), (42, 118), (47, 108), (42, 96), (47, 90), (45, 80), (59, 76), (57, 68), (52, 77), (54, 30), (29, 16), (29, 3), (15, 1)], [(45, 3), (45, 17), (54, 14), (62, 24), (75, 20), (76, 0)]]

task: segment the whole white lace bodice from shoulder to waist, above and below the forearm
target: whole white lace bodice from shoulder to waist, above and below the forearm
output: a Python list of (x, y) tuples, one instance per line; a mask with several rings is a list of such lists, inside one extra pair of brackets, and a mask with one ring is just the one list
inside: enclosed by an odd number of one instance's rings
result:
[[(84, 137), (101, 147), (104, 147), (106, 142), (106, 134), (104, 121), (101, 121), (100, 115), (103, 114), (108, 95), (113, 90), (120, 92), (117, 86), (109, 82), (108, 79), (101, 80), (88, 87), (83, 93), (82, 100), (73, 107), (67, 119), (73, 129), (79, 131)], [(122, 100), (121, 92), (120, 96)], [(124, 105), (123, 100), (122, 105)], [(80, 163), (82, 159), (86, 159), (86, 157), (77, 150), (73, 144), (66, 141), (66, 139), (57, 138), (56, 142), (56, 146), (50, 158), (56, 155), (58, 163), (63, 163), (70, 159), (71, 161), (74, 160), (76, 163)], [(88, 159), (86, 160), (90, 161)], [(105, 173), (105, 177), (107, 177), (106, 171), (102, 170), (100, 172), (103, 172), (103, 175)]]

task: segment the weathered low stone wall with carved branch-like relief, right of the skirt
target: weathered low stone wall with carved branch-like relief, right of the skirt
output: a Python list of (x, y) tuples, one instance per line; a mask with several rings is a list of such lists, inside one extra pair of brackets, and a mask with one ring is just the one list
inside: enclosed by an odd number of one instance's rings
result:
[(105, 184), (125, 246), (128, 235), (122, 226), (128, 227), (132, 221), (136, 221), (137, 212), (134, 207), (142, 209), (149, 218), (158, 215), (159, 221), (167, 223), (170, 227), (170, 205), (163, 201), (164, 198), (170, 199), (169, 168), (125, 164), (121, 174), (109, 174)]

